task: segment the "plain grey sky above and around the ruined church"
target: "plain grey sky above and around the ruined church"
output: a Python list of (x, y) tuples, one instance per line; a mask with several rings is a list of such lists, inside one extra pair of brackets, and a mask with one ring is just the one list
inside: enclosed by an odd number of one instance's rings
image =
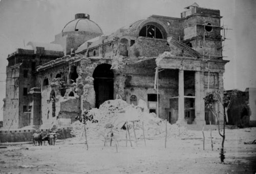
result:
[[(0, 0), (0, 105), (5, 97), (8, 54), (29, 41), (51, 42), (76, 13), (88, 13), (104, 34), (152, 14), (180, 17), (193, 3), (219, 9), (228, 29), (224, 42), (224, 88), (256, 87), (256, 1), (254, 0)], [(3, 109), (0, 111), (2, 119)]]

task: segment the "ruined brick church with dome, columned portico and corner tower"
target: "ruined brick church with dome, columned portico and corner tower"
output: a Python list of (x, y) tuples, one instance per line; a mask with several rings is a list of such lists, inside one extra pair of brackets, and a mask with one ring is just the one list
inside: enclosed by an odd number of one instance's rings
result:
[(104, 35), (89, 14), (76, 14), (53, 42), (8, 55), (3, 126), (65, 125), (116, 98), (143, 100), (170, 123), (216, 124), (203, 97), (223, 89), (220, 19), (195, 3), (180, 18), (152, 15)]

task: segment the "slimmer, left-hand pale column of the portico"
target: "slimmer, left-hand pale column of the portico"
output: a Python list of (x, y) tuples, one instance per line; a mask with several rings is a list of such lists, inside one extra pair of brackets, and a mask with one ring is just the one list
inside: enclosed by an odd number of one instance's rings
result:
[(184, 107), (184, 70), (179, 69), (179, 99), (178, 99), (178, 108), (179, 108), (179, 113), (178, 113), (178, 120), (177, 123), (180, 124), (186, 124), (185, 122), (185, 107)]

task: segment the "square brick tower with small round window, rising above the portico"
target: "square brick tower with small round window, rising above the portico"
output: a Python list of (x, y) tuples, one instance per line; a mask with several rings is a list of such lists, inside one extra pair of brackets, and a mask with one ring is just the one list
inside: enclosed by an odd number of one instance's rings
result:
[(181, 13), (183, 42), (201, 55), (222, 58), (220, 10), (201, 8), (194, 3)]

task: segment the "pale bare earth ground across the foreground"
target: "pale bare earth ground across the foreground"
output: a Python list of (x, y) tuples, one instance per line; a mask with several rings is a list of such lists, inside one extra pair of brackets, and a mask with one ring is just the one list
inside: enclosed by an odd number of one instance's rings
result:
[[(0, 148), (0, 173), (255, 173), (256, 144), (244, 144), (256, 139), (256, 128), (226, 130), (225, 163), (220, 163), (221, 137), (205, 131), (205, 151), (202, 131), (188, 131), (185, 139), (164, 137), (143, 140), (138, 146), (103, 146), (101, 140), (84, 141), (75, 138), (61, 140), (55, 146), (18, 144)], [(3, 145), (3, 144), (2, 144)]]

